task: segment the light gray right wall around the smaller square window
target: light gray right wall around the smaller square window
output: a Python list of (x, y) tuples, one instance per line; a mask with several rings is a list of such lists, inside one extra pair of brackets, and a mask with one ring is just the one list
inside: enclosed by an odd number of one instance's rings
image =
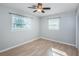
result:
[[(60, 29), (49, 31), (47, 19), (55, 17), (60, 17)], [(73, 45), (76, 44), (76, 19), (73, 11), (43, 17), (40, 27), (40, 35), (43, 37)]]

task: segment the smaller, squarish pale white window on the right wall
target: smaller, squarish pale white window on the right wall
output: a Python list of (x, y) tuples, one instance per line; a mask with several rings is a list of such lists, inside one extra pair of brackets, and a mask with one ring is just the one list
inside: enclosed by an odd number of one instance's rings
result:
[(49, 30), (59, 30), (59, 18), (52, 18), (48, 20)]

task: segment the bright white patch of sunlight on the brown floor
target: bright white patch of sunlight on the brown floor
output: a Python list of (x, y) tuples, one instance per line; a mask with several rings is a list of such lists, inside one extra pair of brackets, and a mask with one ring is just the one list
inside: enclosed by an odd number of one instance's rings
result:
[(55, 49), (55, 48), (50, 48), (48, 50), (48, 55), (49, 56), (67, 56), (67, 54), (65, 52)]

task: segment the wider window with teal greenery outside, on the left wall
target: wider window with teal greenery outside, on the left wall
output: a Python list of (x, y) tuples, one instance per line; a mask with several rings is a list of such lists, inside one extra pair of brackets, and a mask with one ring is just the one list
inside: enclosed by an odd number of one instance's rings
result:
[(31, 19), (12, 14), (12, 30), (26, 30), (31, 28)]

